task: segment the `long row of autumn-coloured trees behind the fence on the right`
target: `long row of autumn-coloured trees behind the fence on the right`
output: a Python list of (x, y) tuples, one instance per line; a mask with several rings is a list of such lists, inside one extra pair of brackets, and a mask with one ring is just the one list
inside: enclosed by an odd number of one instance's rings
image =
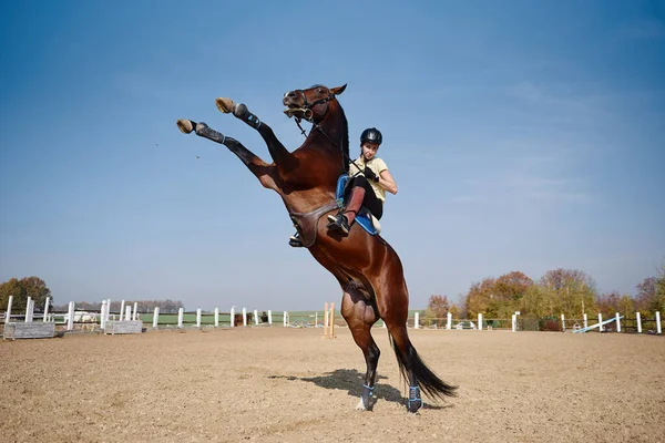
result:
[(426, 319), (442, 319), (448, 312), (454, 318), (510, 319), (519, 311), (523, 317), (581, 319), (584, 313), (604, 317), (618, 312), (633, 317), (640, 311), (644, 318), (665, 312), (665, 265), (656, 276), (645, 278), (635, 287), (635, 295), (616, 291), (600, 293), (594, 280), (579, 269), (554, 269), (538, 280), (521, 271), (488, 277), (474, 282), (460, 303), (448, 296), (432, 295), (424, 312)]

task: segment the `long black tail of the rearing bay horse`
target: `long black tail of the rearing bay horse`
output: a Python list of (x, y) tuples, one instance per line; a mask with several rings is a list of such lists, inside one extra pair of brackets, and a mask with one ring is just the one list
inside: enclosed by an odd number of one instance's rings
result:
[(416, 375), (416, 380), (418, 380), (418, 387), (428, 394), (430, 398), (438, 398), (443, 400), (443, 396), (457, 396), (457, 389), (452, 384), (446, 383), (443, 380), (439, 378), (436, 373), (432, 372), (431, 369), (424, 364), (424, 362), (418, 356), (416, 348), (411, 344), (411, 340), (407, 336), (407, 331), (405, 328), (405, 338), (407, 346), (407, 354), (405, 354), (397, 343), (392, 334), (388, 333), (390, 339), (390, 344), (392, 344), (392, 349), (395, 350), (395, 354), (397, 356), (397, 363), (399, 364), (399, 371), (407, 382), (409, 382), (409, 369), (413, 371)]

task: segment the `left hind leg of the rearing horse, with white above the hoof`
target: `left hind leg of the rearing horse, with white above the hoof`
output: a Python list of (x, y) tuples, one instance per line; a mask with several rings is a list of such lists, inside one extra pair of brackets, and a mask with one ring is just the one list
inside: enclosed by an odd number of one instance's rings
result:
[(362, 396), (356, 406), (358, 410), (371, 411), (374, 399), (374, 387), (377, 378), (377, 365), (381, 354), (379, 347), (371, 337), (371, 327), (378, 317), (375, 308), (366, 302), (364, 297), (352, 289), (345, 290), (341, 299), (341, 315), (347, 321), (354, 341), (362, 350), (367, 371), (362, 384)]

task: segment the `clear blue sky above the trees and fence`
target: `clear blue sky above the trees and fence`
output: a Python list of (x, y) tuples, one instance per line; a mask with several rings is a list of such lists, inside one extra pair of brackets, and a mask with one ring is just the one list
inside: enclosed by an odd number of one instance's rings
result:
[[(158, 7), (157, 7), (158, 4)], [(2, 2), (0, 281), (57, 303), (317, 309), (339, 287), (291, 249), (276, 194), (205, 121), (246, 103), (290, 148), (282, 95), (338, 86), (398, 185), (383, 236), (411, 307), (555, 268), (634, 292), (665, 262), (665, 2)], [(190, 3), (194, 4), (194, 3)]]

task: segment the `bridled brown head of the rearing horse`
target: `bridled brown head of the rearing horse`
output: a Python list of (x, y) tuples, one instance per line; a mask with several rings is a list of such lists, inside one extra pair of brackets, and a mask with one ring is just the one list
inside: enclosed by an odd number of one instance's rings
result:
[(294, 90), (284, 94), (283, 103), (286, 106), (284, 113), (289, 117), (305, 119), (313, 123), (320, 123), (326, 117), (330, 107), (330, 101), (346, 89), (346, 84), (339, 87), (328, 89), (316, 84), (308, 90)]

